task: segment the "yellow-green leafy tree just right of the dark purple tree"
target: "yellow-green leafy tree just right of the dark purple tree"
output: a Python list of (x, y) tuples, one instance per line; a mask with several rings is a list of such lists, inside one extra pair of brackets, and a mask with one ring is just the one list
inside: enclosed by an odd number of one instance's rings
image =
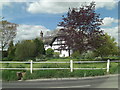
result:
[(116, 55), (118, 52), (117, 43), (115, 42), (115, 38), (109, 36), (107, 33), (105, 36), (101, 36), (99, 39), (104, 39), (105, 43), (94, 50), (97, 56), (105, 57), (109, 55)]

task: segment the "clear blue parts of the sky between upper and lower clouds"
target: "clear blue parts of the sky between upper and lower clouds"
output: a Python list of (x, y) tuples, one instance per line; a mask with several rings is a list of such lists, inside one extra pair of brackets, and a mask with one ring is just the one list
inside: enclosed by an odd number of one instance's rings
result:
[[(9, 20), (10, 22), (14, 22), (17, 24), (28, 24), (28, 25), (42, 25), (46, 28), (53, 30), (57, 27), (57, 24), (62, 20), (62, 15), (65, 13), (30, 13), (27, 11), (27, 4), (26, 2), (14, 2), (11, 3), (11, 6), (4, 6), (3, 7), (3, 16), (5, 19)], [(106, 9), (106, 8), (99, 8), (96, 10), (96, 13), (100, 13), (100, 17), (112, 17), (117, 19), (118, 18), (118, 8), (117, 6), (113, 9)]]

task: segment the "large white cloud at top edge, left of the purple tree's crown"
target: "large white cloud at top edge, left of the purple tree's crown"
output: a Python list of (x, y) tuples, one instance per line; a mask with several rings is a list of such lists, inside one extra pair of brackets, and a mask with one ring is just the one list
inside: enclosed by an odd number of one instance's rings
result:
[(80, 3), (64, 3), (64, 2), (47, 2), (39, 1), (34, 2), (29, 5), (27, 8), (28, 12), (31, 13), (64, 13), (68, 11), (68, 7), (77, 7), (80, 6)]

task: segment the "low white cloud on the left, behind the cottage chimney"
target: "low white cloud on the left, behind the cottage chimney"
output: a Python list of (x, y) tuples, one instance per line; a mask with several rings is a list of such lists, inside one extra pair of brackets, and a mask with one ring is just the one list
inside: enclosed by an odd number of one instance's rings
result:
[(14, 41), (17, 42), (21, 40), (30, 40), (36, 37), (40, 37), (41, 31), (44, 35), (46, 35), (47, 31), (50, 30), (40, 25), (19, 25), (19, 27), (17, 28), (17, 35)]

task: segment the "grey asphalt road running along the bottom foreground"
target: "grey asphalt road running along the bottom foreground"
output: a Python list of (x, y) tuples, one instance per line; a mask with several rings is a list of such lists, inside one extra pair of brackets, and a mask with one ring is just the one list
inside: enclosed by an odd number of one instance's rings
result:
[(47, 81), (15, 81), (3, 82), (2, 88), (118, 88), (120, 75), (76, 79), (76, 80), (47, 80)]

